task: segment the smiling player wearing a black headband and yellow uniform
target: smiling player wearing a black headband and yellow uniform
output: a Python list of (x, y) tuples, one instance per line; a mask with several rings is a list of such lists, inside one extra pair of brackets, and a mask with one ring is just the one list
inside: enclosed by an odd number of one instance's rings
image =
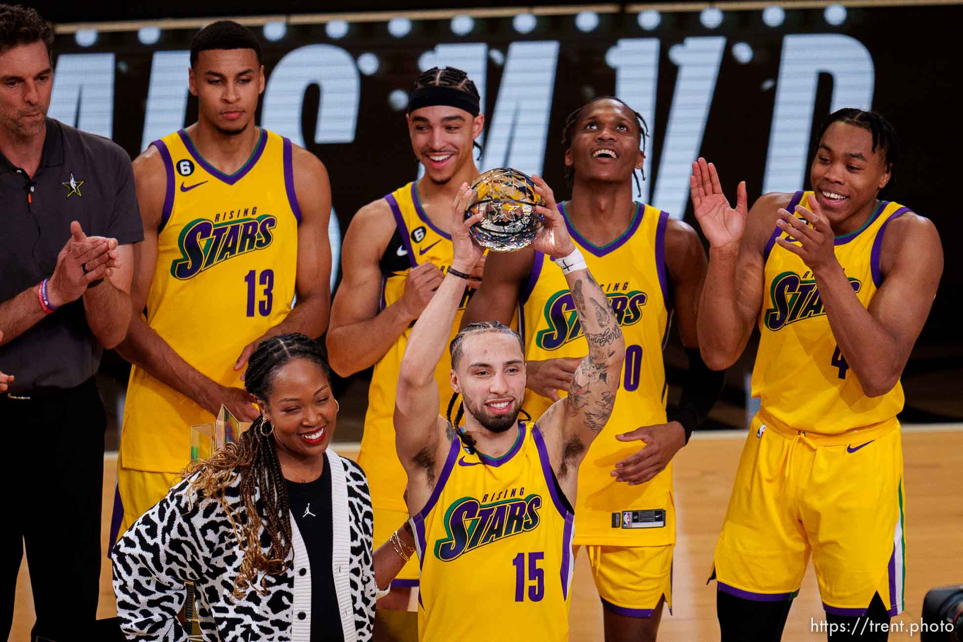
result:
[[(479, 175), (472, 148), (483, 124), (479, 92), (464, 71), (434, 67), (422, 73), (411, 90), (407, 125), (425, 176), (362, 207), (345, 235), (343, 280), (331, 309), (327, 350), (331, 367), (342, 376), (375, 366), (358, 463), (371, 487), (377, 541), (407, 519), (391, 419), (398, 369), (412, 322), (441, 283), (441, 269), (452, 264), (448, 215), (458, 186)], [(475, 273), (481, 276), (481, 267)], [(459, 310), (478, 280), (468, 285)], [(457, 320), (453, 335), (456, 330)], [(443, 359), (437, 379), (446, 390), (448, 372)], [(406, 609), (417, 584), (412, 559), (377, 607)]]

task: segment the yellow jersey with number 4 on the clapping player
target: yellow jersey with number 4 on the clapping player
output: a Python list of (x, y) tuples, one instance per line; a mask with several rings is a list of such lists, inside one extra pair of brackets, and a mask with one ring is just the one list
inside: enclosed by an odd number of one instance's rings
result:
[[(812, 194), (795, 193), (787, 209), (808, 207)], [(836, 237), (836, 259), (864, 306), (882, 283), (879, 253), (886, 225), (907, 211), (881, 201), (865, 225)], [(833, 337), (816, 278), (801, 258), (775, 243), (780, 235), (788, 236), (777, 227), (766, 245), (761, 336), (752, 371), (752, 396), (762, 398), (764, 418), (825, 434), (893, 419), (902, 410), (902, 385), (880, 397), (863, 393)]]

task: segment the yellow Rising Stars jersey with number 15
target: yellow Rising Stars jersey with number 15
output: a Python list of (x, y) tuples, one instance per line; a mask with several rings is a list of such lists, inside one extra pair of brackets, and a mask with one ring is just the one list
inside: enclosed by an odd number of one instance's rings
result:
[(498, 458), (455, 437), (411, 518), (421, 562), (421, 640), (567, 640), (575, 516), (538, 426)]

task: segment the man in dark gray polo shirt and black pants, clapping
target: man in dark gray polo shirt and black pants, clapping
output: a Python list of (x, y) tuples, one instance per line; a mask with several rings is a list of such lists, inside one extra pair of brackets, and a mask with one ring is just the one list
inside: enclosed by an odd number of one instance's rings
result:
[(93, 384), (131, 319), (143, 239), (130, 158), (46, 117), (53, 31), (0, 5), (0, 393), (6, 494), (0, 638), (26, 545), (32, 639), (92, 639), (100, 574), (105, 417)]

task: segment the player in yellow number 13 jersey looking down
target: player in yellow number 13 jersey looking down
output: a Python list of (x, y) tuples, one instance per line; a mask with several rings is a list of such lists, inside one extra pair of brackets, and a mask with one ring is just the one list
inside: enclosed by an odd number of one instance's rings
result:
[(257, 417), (241, 382), (253, 348), (286, 332), (320, 336), (330, 304), (327, 172), (254, 125), (257, 40), (234, 22), (208, 25), (192, 43), (189, 80), (197, 122), (134, 162), (144, 241), (139, 314), (118, 348), (134, 364), (117, 462), (121, 529), (189, 463), (192, 424), (213, 421), (221, 403)]

